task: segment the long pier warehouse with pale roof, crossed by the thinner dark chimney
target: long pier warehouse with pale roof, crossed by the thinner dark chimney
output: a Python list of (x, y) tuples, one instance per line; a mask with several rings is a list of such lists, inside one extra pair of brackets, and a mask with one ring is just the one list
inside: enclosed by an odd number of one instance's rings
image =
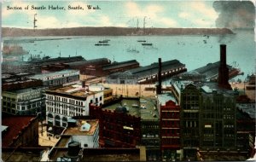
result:
[[(125, 72), (115, 72), (106, 78), (107, 84), (150, 84), (157, 80), (159, 63), (153, 63), (146, 67), (138, 67)], [(161, 64), (162, 78), (172, 77), (181, 72), (186, 72), (187, 68), (177, 60), (165, 61)]]

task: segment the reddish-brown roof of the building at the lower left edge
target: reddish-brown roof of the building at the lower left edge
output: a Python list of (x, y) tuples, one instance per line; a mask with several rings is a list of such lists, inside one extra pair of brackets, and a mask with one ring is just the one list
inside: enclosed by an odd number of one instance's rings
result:
[(24, 130), (37, 116), (9, 116), (3, 117), (2, 124), (8, 126), (2, 136), (2, 147), (9, 147), (21, 130)]

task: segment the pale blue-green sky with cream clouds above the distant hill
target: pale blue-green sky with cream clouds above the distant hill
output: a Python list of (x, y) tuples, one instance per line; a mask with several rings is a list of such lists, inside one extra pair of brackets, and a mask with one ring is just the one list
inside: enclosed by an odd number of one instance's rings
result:
[[(43, 28), (63, 28), (78, 26), (120, 26), (120, 27), (205, 27), (214, 28), (224, 11), (213, 1), (5, 1), (2, 3), (2, 26), (33, 28), (36, 15), (37, 26)], [(32, 9), (33, 6), (46, 9)], [(48, 9), (49, 6), (64, 7), (61, 10)], [(80, 6), (84, 10), (68, 9), (68, 5)], [(100, 9), (88, 9), (87, 5)], [(230, 6), (230, 4), (226, 4)], [(7, 9), (7, 7), (22, 9)], [(25, 9), (29, 6), (28, 9)], [(234, 8), (232, 8), (234, 9)], [(254, 9), (254, 8), (253, 8)], [(234, 12), (234, 11), (230, 11)], [(244, 12), (247, 14), (247, 6)], [(254, 13), (255, 14), (255, 13)], [(224, 13), (224, 15), (226, 15)], [(232, 14), (230, 14), (232, 15)], [(251, 15), (247, 16), (251, 19)], [(228, 16), (230, 17), (230, 16)], [(237, 16), (236, 16), (237, 17)], [(239, 16), (238, 16), (239, 17)], [(224, 17), (224, 20), (226, 18)], [(243, 20), (243, 19), (241, 19)], [(240, 21), (241, 21), (240, 20)], [(225, 23), (243, 24), (243, 23)], [(218, 26), (219, 27), (219, 26)]]

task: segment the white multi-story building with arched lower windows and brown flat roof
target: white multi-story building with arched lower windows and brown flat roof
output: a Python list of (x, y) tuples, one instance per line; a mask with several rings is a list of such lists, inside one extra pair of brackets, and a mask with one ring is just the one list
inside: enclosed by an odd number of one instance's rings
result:
[(47, 124), (61, 127), (73, 116), (89, 115), (90, 104), (102, 105), (104, 96), (103, 89), (90, 91), (79, 84), (46, 90), (45, 95)]

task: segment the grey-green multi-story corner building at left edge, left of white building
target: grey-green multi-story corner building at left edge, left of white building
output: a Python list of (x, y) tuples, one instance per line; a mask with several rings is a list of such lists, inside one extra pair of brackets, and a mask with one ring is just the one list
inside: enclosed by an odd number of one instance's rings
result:
[(2, 111), (5, 113), (28, 115), (44, 113), (42, 87), (3, 91)]

